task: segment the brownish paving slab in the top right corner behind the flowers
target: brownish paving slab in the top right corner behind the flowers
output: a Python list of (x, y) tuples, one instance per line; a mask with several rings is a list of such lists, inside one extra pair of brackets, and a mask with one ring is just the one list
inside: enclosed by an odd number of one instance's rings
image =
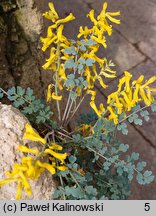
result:
[[(101, 10), (103, 0), (94, 1), (92, 7)], [(156, 4), (149, 0), (109, 0), (110, 11), (121, 11), (121, 25), (116, 28), (131, 42), (154, 38), (156, 33)]]

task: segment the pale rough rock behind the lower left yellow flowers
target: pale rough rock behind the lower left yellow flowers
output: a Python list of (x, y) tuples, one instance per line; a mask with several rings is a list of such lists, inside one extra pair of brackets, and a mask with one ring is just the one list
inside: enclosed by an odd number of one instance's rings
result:
[[(5, 171), (10, 170), (14, 163), (20, 162), (23, 154), (17, 151), (17, 147), (23, 142), (22, 136), (27, 122), (17, 109), (0, 103), (0, 179), (5, 178)], [(23, 199), (49, 200), (55, 188), (48, 172), (43, 173), (38, 181), (31, 182), (31, 186), (33, 197), (24, 195)], [(15, 194), (15, 184), (0, 188), (0, 200), (15, 199)]]

